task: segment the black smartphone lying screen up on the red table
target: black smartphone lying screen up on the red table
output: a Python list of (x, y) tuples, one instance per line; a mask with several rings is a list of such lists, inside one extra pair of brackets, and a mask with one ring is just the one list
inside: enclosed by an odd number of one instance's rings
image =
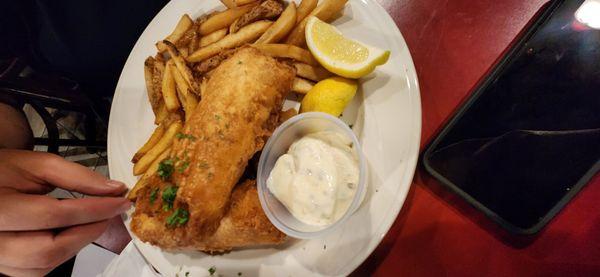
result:
[(583, 2), (538, 13), (422, 156), (512, 233), (538, 232), (600, 169), (600, 30), (575, 19)]

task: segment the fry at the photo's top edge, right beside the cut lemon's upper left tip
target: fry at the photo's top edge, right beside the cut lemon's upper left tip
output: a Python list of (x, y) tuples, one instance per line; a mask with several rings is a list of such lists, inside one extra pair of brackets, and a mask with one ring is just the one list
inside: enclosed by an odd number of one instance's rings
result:
[(294, 30), (285, 40), (285, 43), (296, 46), (303, 46), (306, 43), (306, 37), (304, 36), (304, 29), (308, 18), (316, 16), (325, 22), (329, 22), (338, 12), (340, 12), (348, 0), (324, 0), (321, 5), (318, 5), (308, 16), (306, 16), (300, 23), (296, 25)]

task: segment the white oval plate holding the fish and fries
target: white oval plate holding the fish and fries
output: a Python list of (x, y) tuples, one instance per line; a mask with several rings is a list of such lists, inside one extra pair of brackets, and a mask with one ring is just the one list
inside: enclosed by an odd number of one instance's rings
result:
[[(182, 14), (195, 18), (221, 6), (217, 0), (171, 1), (135, 44), (121, 73), (111, 110), (111, 178), (135, 184), (130, 159), (154, 128), (143, 77), (144, 59), (156, 53), (154, 43), (171, 32)], [(223, 276), (237, 276), (238, 272), (242, 276), (347, 275), (388, 231), (404, 203), (419, 150), (421, 103), (415, 68), (394, 21), (374, 0), (350, 0), (334, 25), (351, 38), (392, 52), (387, 64), (362, 79), (355, 103), (344, 114), (344, 119), (354, 124), (369, 165), (369, 189), (360, 209), (327, 237), (217, 256), (165, 252), (134, 238), (144, 257), (164, 276), (178, 272), (182, 276), (187, 271), (190, 276), (204, 276), (211, 266)], [(129, 218), (125, 221), (129, 227)]]

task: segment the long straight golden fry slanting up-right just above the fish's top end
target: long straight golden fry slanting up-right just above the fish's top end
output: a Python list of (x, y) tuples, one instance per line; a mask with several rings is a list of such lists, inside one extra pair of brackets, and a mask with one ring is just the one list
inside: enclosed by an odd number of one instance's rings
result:
[(219, 52), (223, 50), (235, 48), (245, 43), (252, 42), (260, 37), (269, 28), (269, 26), (271, 26), (272, 23), (272, 21), (261, 20), (249, 24), (235, 34), (229, 34), (213, 44), (198, 49), (198, 51), (190, 54), (187, 57), (187, 60), (188, 62), (201, 62), (219, 54)]

